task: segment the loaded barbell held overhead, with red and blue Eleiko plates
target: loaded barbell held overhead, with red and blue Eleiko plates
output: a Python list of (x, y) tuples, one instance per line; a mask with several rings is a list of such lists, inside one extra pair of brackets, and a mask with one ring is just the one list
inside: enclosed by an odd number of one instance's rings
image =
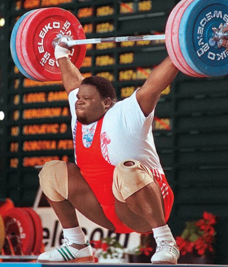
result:
[(70, 60), (81, 67), (86, 44), (165, 40), (168, 55), (177, 68), (193, 77), (228, 74), (227, 0), (181, 0), (170, 13), (165, 34), (86, 39), (82, 25), (69, 11), (58, 7), (25, 13), (11, 33), (10, 49), (15, 65), (29, 79), (61, 80), (54, 56), (56, 38), (70, 35)]

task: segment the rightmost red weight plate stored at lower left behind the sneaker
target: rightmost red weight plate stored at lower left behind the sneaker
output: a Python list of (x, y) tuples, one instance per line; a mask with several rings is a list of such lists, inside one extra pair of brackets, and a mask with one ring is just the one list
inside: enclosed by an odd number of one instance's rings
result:
[(43, 227), (41, 223), (40, 216), (33, 210), (32, 208), (23, 208), (26, 210), (29, 215), (31, 216), (34, 224), (35, 229), (35, 240), (34, 240), (34, 246), (32, 252), (35, 255), (40, 254), (41, 247), (42, 247), (42, 241), (43, 241)]

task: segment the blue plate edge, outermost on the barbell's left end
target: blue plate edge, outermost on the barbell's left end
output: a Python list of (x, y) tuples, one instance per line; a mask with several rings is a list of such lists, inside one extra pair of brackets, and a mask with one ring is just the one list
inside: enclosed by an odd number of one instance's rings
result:
[(30, 76), (22, 67), (22, 65), (20, 64), (20, 61), (18, 59), (17, 56), (17, 52), (16, 52), (16, 36), (17, 36), (17, 30), (20, 26), (20, 23), (22, 22), (22, 20), (29, 15), (29, 13), (34, 12), (34, 10), (28, 11), (26, 12), (24, 15), (22, 15), (19, 20), (17, 20), (17, 22), (15, 23), (12, 33), (11, 33), (11, 37), (10, 37), (10, 52), (11, 52), (11, 56), (13, 59), (14, 64), (17, 66), (18, 70), (27, 78), (35, 80), (32, 76)]

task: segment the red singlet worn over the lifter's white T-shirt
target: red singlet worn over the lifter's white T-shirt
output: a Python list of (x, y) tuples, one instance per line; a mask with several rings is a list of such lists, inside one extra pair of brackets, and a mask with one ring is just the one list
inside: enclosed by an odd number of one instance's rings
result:
[[(104, 117), (97, 122), (95, 134), (90, 147), (84, 147), (82, 141), (82, 124), (77, 122), (75, 141), (77, 165), (80, 168), (81, 174), (83, 175), (84, 179), (91, 187), (97, 200), (100, 202), (105, 216), (114, 225), (115, 232), (132, 233), (135, 231), (123, 224), (123, 222), (121, 222), (121, 220), (115, 213), (115, 197), (112, 192), (113, 172), (115, 166), (108, 163), (104, 159), (101, 152), (101, 127), (103, 119)], [(161, 181), (158, 182), (160, 182), (159, 185), (161, 185)], [(168, 186), (166, 180), (163, 181), (163, 183), (166, 183), (166, 186)], [(168, 190), (171, 190), (169, 186), (168, 188)], [(166, 198), (167, 197), (164, 198), (164, 205), (166, 210), (165, 219), (168, 220), (172, 208), (173, 194), (172, 202), (168, 200), (168, 210), (166, 208), (167, 205), (165, 204)]]

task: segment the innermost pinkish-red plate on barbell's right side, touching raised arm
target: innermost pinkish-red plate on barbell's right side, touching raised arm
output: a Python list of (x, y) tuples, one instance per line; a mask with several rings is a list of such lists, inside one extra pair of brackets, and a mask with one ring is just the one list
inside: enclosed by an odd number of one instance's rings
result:
[[(167, 20), (167, 24), (166, 24), (166, 29), (165, 29), (165, 36), (166, 36), (166, 48), (169, 54), (169, 57), (171, 58), (173, 64), (184, 74), (189, 75), (189, 76), (195, 76), (197, 77), (198, 74), (193, 73), (191, 70), (189, 70), (189, 66), (185, 66), (183, 67), (183, 65), (180, 63), (179, 61), (179, 57), (180, 55), (177, 53), (178, 50), (180, 50), (180, 48), (178, 49), (179, 46), (179, 42), (177, 43), (173, 43), (173, 35), (174, 35), (174, 21), (175, 18), (179, 12), (179, 10), (186, 5), (189, 1), (193, 1), (193, 0), (182, 0), (181, 2), (179, 2), (172, 10), (172, 12), (170, 13), (168, 20)], [(177, 25), (178, 26), (178, 25)], [(181, 54), (181, 52), (180, 52)]]

